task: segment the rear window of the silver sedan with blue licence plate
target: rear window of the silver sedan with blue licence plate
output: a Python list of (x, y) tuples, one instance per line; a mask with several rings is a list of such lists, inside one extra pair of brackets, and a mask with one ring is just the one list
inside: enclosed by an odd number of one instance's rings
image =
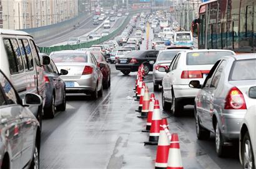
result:
[(55, 63), (62, 62), (87, 62), (86, 53), (56, 53), (51, 55)]

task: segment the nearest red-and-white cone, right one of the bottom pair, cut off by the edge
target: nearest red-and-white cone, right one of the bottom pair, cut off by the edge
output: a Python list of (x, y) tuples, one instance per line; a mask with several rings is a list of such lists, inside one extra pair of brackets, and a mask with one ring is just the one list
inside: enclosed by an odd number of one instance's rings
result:
[(172, 134), (170, 140), (167, 169), (183, 169), (178, 134)]

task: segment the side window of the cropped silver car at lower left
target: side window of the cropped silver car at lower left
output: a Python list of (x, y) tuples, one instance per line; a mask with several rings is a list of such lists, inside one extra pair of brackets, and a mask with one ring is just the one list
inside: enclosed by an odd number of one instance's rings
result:
[(17, 104), (17, 96), (11, 83), (6, 79), (4, 75), (0, 73), (0, 85), (2, 87), (2, 93), (6, 98), (6, 104)]

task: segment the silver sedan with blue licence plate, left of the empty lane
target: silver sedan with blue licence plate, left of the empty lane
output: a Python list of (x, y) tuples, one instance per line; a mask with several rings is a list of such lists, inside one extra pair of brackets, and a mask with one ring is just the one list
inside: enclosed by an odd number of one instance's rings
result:
[(66, 93), (91, 94), (93, 99), (102, 96), (101, 64), (91, 52), (81, 50), (62, 50), (52, 52), (50, 57), (59, 71), (67, 70), (67, 75), (62, 75), (66, 83)]

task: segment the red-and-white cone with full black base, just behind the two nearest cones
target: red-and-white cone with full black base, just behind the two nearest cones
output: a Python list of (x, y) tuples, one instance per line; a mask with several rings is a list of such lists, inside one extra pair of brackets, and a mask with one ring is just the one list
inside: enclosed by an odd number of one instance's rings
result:
[(149, 145), (157, 145), (158, 139), (159, 139), (159, 132), (160, 132), (160, 106), (159, 106), (159, 100), (155, 100), (154, 105), (154, 111), (152, 115), (152, 124), (150, 127), (150, 133), (149, 133), (149, 142), (144, 142), (145, 144)]

